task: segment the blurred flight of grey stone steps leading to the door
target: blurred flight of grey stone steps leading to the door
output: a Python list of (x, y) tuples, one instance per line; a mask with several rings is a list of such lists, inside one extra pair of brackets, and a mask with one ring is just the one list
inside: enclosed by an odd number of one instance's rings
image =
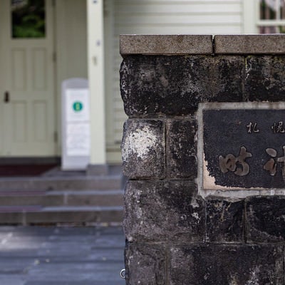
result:
[(122, 222), (123, 176), (55, 168), (36, 177), (0, 178), (0, 224)]

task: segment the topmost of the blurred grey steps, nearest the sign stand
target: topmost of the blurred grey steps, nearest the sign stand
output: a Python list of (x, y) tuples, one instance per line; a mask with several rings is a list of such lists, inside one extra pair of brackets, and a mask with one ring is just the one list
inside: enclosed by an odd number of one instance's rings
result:
[(122, 175), (77, 177), (5, 177), (0, 190), (118, 190), (122, 189)]

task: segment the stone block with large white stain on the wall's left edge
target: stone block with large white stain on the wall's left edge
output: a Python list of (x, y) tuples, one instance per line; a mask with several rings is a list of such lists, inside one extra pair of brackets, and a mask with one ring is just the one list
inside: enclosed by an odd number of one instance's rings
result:
[(165, 177), (165, 124), (127, 120), (122, 142), (123, 173), (129, 178)]

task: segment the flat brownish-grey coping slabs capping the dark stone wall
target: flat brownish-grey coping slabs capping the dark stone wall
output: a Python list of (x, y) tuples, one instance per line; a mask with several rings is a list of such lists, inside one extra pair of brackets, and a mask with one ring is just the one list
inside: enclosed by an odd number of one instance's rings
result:
[(285, 54), (285, 34), (120, 35), (120, 54)]

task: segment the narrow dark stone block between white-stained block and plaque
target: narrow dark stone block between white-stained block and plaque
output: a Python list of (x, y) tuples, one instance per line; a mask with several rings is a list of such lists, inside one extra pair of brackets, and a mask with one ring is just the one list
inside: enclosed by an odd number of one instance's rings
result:
[(197, 177), (197, 123), (167, 120), (166, 165), (168, 177)]

